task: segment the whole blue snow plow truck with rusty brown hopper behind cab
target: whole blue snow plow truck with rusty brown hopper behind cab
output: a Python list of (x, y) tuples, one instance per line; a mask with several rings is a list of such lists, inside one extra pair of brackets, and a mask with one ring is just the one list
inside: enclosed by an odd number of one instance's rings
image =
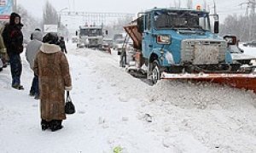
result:
[[(124, 42), (120, 64), (128, 71), (143, 72), (154, 83), (160, 79), (235, 78), (241, 71), (234, 63), (228, 42), (218, 37), (218, 14), (187, 8), (153, 8), (138, 14), (124, 29), (133, 41), (128, 58)], [(213, 31), (213, 32), (212, 32)], [(131, 59), (127, 61), (127, 59)]]

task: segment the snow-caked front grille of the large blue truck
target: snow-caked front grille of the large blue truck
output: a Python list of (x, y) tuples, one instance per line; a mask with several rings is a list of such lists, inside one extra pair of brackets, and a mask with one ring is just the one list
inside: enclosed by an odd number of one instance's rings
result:
[(181, 62), (193, 65), (218, 64), (225, 60), (226, 42), (211, 40), (183, 40)]

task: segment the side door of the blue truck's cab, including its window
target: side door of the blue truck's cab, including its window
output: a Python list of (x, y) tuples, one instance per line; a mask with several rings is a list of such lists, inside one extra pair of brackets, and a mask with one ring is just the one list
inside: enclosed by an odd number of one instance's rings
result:
[(153, 36), (152, 36), (152, 25), (150, 20), (150, 14), (145, 14), (144, 17), (145, 20), (143, 20), (143, 57), (146, 59), (149, 59), (149, 55), (152, 52), (153, 49)]

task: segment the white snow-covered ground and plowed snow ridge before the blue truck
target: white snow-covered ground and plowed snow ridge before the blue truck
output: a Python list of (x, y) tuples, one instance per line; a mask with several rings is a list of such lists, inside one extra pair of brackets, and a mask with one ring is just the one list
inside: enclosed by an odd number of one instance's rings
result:
[(9, 68), (0, 72), (0, 152), (256, 152), (256, 94), (209, 83), (150, 86), (120, 68), (115, 52), (68, 48), (77, 112), (55, 133), (41, 130), (24, 54), (24, 91), (10, 87)]

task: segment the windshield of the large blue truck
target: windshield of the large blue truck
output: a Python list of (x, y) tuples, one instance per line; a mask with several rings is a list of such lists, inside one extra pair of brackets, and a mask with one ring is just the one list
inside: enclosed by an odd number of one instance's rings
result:
[(209, 15), (191, 10), (155, 11), (154, 26), (157, 29), (210, 30)]

